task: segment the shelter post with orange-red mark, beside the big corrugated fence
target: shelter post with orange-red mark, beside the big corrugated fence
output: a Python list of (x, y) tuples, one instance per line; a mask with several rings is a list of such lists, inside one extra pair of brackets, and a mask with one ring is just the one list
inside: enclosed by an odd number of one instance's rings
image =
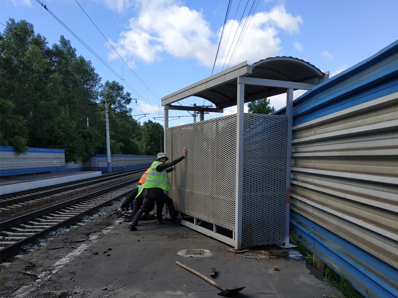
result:
[(291, 175), (291, 166), (292, 166), (292, 128), (293, 128), (293, 88), (289, 88), (286, 93), (286, 116), (288, 116), (288, 152), (286, 158), (285, 247), (289, 247), (290, 175)]

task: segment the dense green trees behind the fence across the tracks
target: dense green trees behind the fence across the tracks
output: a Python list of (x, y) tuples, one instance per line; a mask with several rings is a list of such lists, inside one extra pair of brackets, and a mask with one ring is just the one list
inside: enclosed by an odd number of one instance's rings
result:
[(116, 81), (102, 83), (64, 36), (50, 47), (31, 23), (10, 18), (0, 33), (0, 53), (1, 146), (18, 154), (28, 147), (65, 149), (66, 162), (106, 153), (108, 102), (112, 154), (159, 152), (163, 127), (133, 119), (131, 94)]

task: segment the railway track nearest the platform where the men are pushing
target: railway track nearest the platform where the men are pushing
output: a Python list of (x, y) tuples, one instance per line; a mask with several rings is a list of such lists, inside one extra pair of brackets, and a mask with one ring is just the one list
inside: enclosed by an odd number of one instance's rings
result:
[(0, 261), (61, 226), (78, 222), (130, 193), (139, 178), (0, 223)]

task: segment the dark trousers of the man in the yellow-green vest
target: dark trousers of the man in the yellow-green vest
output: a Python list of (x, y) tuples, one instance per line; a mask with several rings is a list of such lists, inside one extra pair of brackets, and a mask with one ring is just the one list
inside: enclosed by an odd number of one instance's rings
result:
[[(170, 218), (174, 222), (176, 220), (176, 214), (175, 214), (175, 211), (174, 211), (173, 200), (170, 199), (163, 192), (163, 189), (161, 189), (161, 188), (147, 188), (146, 192), (144, 194), (144, 201), (142, 202), (142, 205), (141, 205), (140, 209), (137, 211), (137, 213), (134, 216), (133, 221), (130, 224), (134, 225), (134, 226), (137, 226), (137, 224), (140, 221), (141, 216), (143, 215), (145, 210), (147, 210), (149, 205), (151, 203), (153, 203), (155, 200), (156, 200), (156, 202), (165, 203), (167, 205), (167, 207), (169, 208)], [(161, 204), (159, 204), (159, 205), (161, 205)], [(159, 209), (160, 210), (163, 209), (163, 206), (162, 206), (162, 208), (159, 208), (159, 206), (157, 207), (157, 213), (161, 215), (162, 213), (159, 212)], [(159, 221), (158, 216), (157, 216), (157, 219)]]

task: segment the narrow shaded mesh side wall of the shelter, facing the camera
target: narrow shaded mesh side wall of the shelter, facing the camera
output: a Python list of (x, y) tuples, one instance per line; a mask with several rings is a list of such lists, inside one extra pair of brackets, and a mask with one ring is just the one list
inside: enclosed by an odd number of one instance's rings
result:
[(242, 245), (285, 241), (288, 118), (245, 114)]

